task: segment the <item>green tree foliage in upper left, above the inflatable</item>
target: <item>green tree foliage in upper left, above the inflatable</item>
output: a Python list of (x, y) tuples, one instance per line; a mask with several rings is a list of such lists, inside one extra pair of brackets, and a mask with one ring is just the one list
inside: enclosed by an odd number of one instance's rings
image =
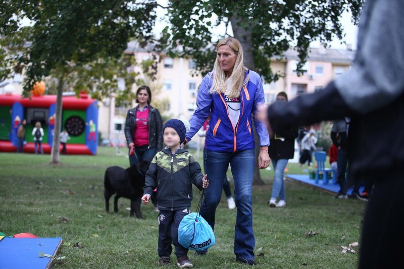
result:
[[(10, 0), (0, 7), (0, 59), (8, 59), (0, 66), (0, 79), (24, 68), (25, 94), (33, 82), (53, 72), (58, 79), (78, 75), (69, 78), (76, 90), (92, 90), (98, 80), (105, 83), (98, 94), (108, 92), (116, 67), (108, 65), (120, 64), (116, 59), (130, 38), (150, 40), (156, 18), (154, 2)], [(19, 27), (23, 18), (31, 25)], [(106, 78), (100, 79), (102, 75)]]

